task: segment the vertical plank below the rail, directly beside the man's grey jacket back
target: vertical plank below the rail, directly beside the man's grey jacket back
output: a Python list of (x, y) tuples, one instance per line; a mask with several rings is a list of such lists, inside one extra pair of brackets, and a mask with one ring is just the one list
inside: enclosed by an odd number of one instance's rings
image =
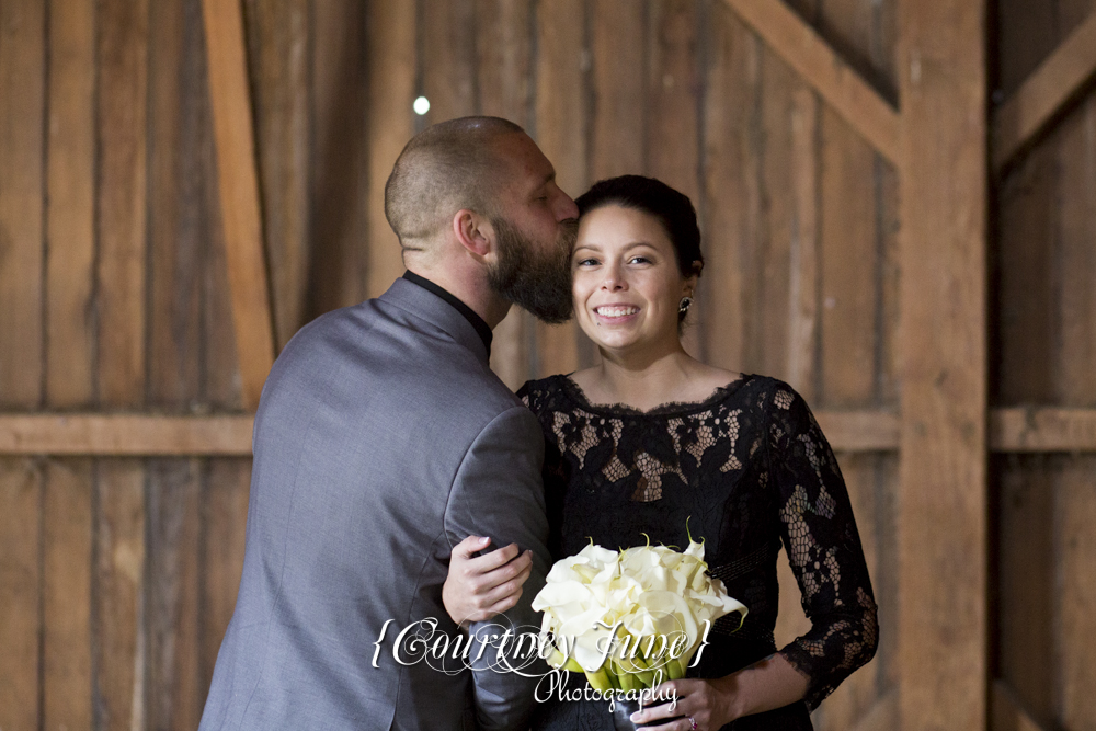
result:
[(210, 459), (202, 484), (201, 697), (209, 692), (243, 572), (251, 460)]

